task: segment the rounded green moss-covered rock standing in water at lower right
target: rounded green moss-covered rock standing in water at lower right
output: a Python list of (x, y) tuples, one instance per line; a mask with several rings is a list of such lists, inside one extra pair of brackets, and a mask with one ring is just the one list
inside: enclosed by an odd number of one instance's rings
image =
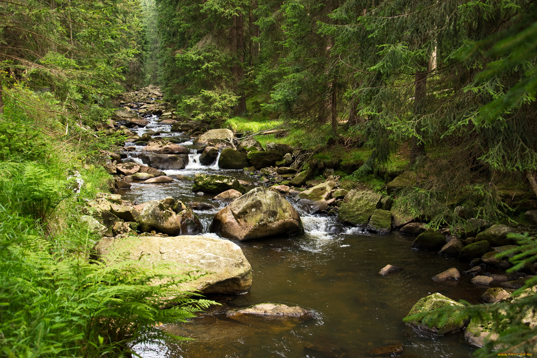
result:
[[(453, 299), (437, 292), (420, 299), (415, 305), (412, 306), (412, 309), (408, 313), (407, 317), (417, 315), (418, 313), (431, 312), (433, 310), (449, 306), (462, 306), (462, 304), (455, 302)], [(443, 324), (440, 323), (440, 321), (440, 318), (437, 318), (431, 322), (424, 323), (423, 318), (417, 318), (415, 320), (407, 321), (407, 323), (418, 330), (431, 332), (438, 335), (458, 331), (465, 326), (465, 322), (455, 320), (453, 315), (448, 316), (447, 321)]]

